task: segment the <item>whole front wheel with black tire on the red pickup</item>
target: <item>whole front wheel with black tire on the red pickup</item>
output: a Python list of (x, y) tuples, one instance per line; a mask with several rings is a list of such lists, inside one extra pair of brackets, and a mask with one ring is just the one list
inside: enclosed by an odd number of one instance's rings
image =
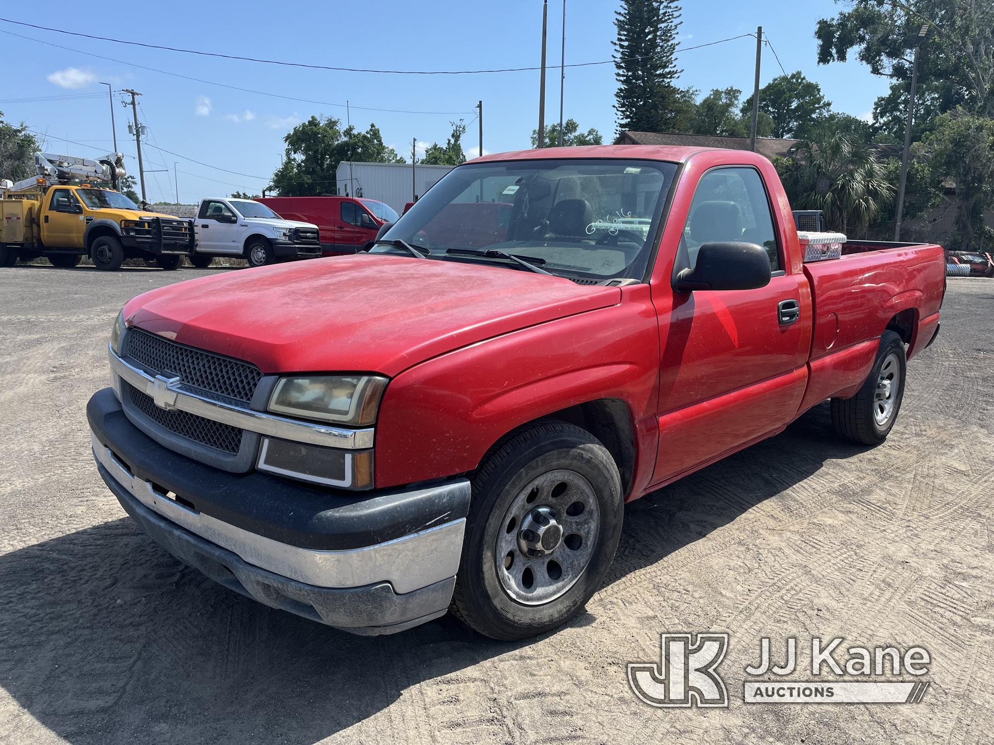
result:
[(621, 479), (607, 449), (580, 427), (540, 420), (494, 446), (472, 489), (453, 614), (511, 641), (580, 613), (621, 536)]

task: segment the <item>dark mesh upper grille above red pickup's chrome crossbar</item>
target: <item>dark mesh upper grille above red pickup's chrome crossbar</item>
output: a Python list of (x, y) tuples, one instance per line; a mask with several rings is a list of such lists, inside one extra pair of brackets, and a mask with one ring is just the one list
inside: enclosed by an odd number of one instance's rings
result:
[(125, 354), (148, 372), (179, 375), (187, 385), (237, 401), (251, 401), (262, 377), (254, 365), (186, 347), (141, 329), (128, 329), (125, 339)]

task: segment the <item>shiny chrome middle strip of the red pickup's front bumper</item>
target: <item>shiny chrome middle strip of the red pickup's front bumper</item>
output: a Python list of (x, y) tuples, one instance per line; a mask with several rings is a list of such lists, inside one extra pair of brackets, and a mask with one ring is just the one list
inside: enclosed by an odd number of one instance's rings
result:
[[(451, 579), (459, 568), (465, 519), (442, 522), (394, 540), (351, 550), (315, 550), (289, 545), (186, 507), (156, 489), (150, 481), (136, 478), (95, 434), (91, 432), (90, 437), (97, 463), (146, 508), (273, 574), (321, 588), (354, 588), (389, 582), (394, 592), (404, 594)], [(468, 482), (464, 488), (469, 488)]]

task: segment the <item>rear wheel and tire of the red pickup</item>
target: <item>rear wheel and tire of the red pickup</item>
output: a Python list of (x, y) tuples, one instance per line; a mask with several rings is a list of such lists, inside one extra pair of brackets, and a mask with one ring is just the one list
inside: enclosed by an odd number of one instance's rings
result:
[(832, 399), (836, 433), (861, 445), (879, 445), (886, 440), (898, 420), (907, 371), (905, 343), (893, 331), (885, 331), (863, 387), (852, 398)]

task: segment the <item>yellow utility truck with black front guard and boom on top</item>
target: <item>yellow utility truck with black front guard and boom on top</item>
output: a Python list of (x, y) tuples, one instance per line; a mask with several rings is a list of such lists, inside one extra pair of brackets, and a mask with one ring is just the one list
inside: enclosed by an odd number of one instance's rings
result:
[(176, 269), (195, 244), (193, 223), (142, 210), (98, 182), (117, 184), (124, 156), (97, 160), (36, 153), (37, 176), (0, 182), (0, 266), (45, 256), (71, 267), (89, 256), (112, 271), (125, 258), (142, 258)]

